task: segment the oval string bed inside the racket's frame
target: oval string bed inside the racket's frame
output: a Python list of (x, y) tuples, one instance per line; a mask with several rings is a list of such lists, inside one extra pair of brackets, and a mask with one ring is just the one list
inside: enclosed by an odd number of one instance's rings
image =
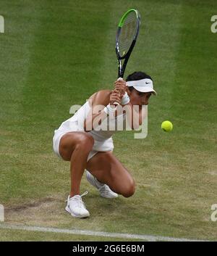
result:
[(124, 20), (124, 25), (122, 25), (122, 30), (119, 35), (119, 53), (121, 57), (127, 54), (129, 47), (132, 44), (135, 36), (137, 34), (137, 17), (134, 12), (129, 13)]

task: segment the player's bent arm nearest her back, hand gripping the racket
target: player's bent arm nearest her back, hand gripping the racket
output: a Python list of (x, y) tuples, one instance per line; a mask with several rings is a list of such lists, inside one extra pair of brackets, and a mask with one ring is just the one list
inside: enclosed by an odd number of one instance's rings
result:
[(90, 96), (89, 104), (92, 105), (88, 116), (85, 119), (85, 131), (92, 131), (94, 127), (101, 124), (101, 121), (107, 117), (104, 107), (114, 102), (121, 102), (118, 90), (102, 90)]

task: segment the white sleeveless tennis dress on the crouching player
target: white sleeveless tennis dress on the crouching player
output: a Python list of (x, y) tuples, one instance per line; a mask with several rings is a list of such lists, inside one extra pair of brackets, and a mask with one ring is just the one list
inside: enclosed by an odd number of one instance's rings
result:
[[(72, 131), (82, 131), (85, 133), (84, 121), (88, 116), (88, 112), (90, 112), (90, 104), (89, 102), (86, 102), (82, 105), (82, 107), (80, 107), (79, 110), (77, 110), (75, 115), (61, 123), (59, 128), (54, 131), (53, 147), (54, 152), (58, 157), (61, 158), (61, 155), (59, 154), (59, 141), (65, 133)], [(110, 117), (110, 119), (109, 117), (106, 117), (101, 123), (101, 128), (103, 127), (103, 129), (98, 131), (98, 128), (95, 128), (95, 130), (88, 132), (91, 136), (93, 136), (94, 139), (93, 149), (88, 155), (88, 160), (90, 160), (90, 158), (98, 152), (108, 152), (114, 149), (112, 135), (116, 130), (115, 127), (117, 123), (123, 123), (123, 120), (125, 120), (125, 115), (126, 114), (124, 113), (123, 115), (118, 115), (117, 117)]]

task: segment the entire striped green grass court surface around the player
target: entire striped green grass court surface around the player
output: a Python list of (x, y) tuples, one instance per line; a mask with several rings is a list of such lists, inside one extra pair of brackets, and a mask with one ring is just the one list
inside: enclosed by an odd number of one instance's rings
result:
[[(114, 153), (131, 170), (137, 191), (129, 199), (103, 199), (83, 177), (90, 218), (75, 219), (64, 212), (69, 162), (53, 152), (54, 129), (73, 104), (113, 87), (116, 25), (132, 7), (142, 23), (126, 75), (147, 72), (158, 92), (149, 102), (148, 137), (114, 136)], [(217, 204), (217, 33), (210, 31), (216, 0), (1, 0), (0, 15), (5, 223), (216, 240), (217, 222), (210, 219)], [(171, 133), (161, 130), (163, 120), (174, 124)], [(0, 228), (0, 240), (91, 240), (17, 232)]]

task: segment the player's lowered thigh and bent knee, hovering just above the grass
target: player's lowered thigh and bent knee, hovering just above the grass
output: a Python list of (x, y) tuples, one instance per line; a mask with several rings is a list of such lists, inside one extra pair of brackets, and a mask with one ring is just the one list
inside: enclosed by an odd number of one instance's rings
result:
[(124, 197), (134, 194), (134, 179), (112, 152), (98, 152), (88, 161), (86, 168), (98, 181), (106, 183), (117, 194)]

